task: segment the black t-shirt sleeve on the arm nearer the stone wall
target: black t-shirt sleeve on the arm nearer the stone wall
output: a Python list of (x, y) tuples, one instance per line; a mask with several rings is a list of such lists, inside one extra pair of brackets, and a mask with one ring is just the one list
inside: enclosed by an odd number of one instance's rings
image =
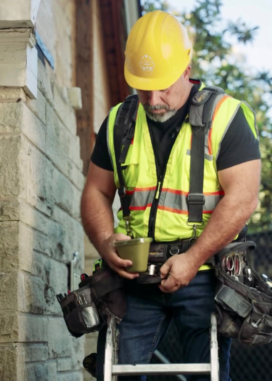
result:
[(98, 131), (91, 161), (100, 168), (113, 171), (108, 145), (107, 145), (107, 123), (108, 116), (105, 118)]

